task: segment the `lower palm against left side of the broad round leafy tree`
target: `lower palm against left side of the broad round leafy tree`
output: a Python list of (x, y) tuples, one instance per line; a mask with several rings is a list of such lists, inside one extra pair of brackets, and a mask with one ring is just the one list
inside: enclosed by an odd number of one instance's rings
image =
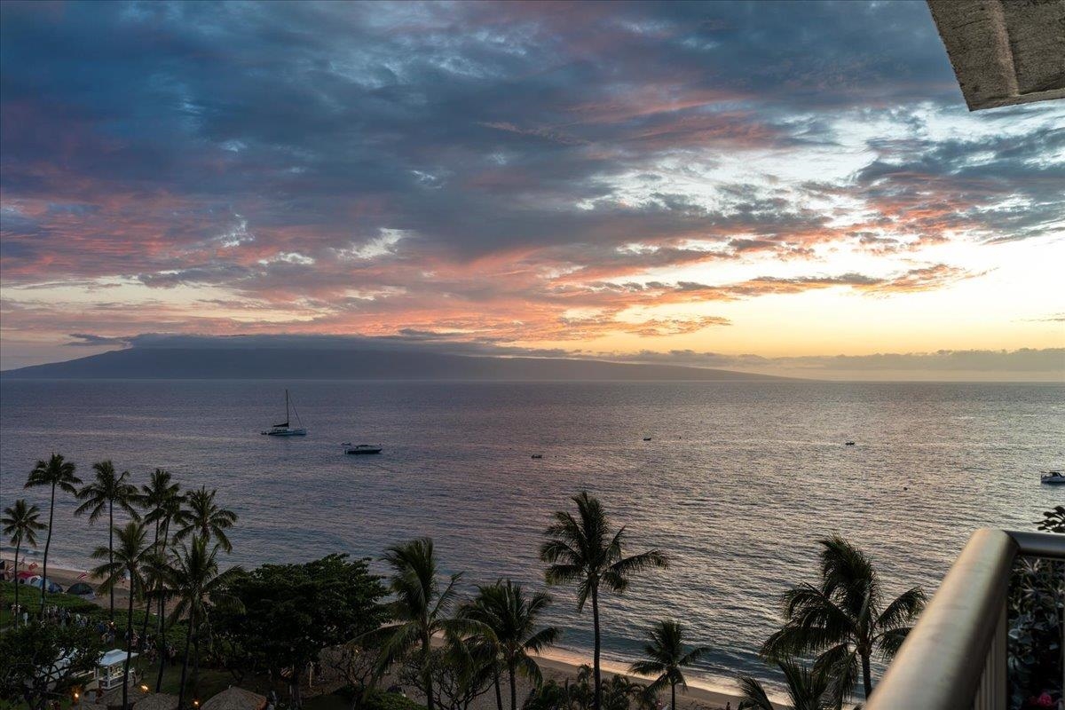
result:
[[(242, 573), (240, 567), (218, 572), (218, 550), (222, 544), (214, 544), (208, 549), (208, 539), (194, 535), (191, 544), (182, 544), (174, 555), (170, 563), (169, 581), (171, 591), (177, 598), (170, 612), (170, 623), (182, 616), (189, 625), (185, 629), (184, 660), (181, 663), (181, 688), (178, 691), (178, 710), (183, 710), (185, 701), (185, 682), (189, 677), (189, 650), (196, 635), (196, 668), (199, 668), (199, 626), (207, 617), (207, 601), (215, 604), (239, 605), (237, 601), (223, 593), (223, 588), (233, 577)], [(194, 678), (194, 686), (199, 681)]]

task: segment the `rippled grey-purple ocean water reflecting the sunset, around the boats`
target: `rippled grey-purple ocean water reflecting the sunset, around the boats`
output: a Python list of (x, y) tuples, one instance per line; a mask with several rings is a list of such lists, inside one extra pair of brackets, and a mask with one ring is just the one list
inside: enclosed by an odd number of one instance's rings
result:
[[(779, 597), (813, 579), (816, 540), (838, 531), (875, 560), (889, 590), (930, 592), (970, 532), (1031, 529), (1065, 492), (1065, 386), (1023, 384), (291, 383), (310, 433), (259, 431), (283, 412), (283, 383), (3, 381), (0, 503), (26, 496), (38, 458), (110, 458), (144, 482), (159, 466), (218, 489), (241, 516), (233, 563), (328, 552), (377, 557), (431, 535), (472, 588), (542, 584), (537, 548), (552, 511), (580, 490), (672, 565), (605, 604), (604, 655), (635, 658), (650, 620), (683, 621), (714, 648), (693, 676), (771, 677), (755, 651)], [(644, 436), (652, 441), (644, 442)], [(853, 440), (855, 446), (843, 446)], [(340, 443), (379, 443), (347, 457)], [(542, 453), (543, 459), (531, 459)], [(103, 526), (56, 505), (55, 564), (82, 568)], [(563, 649), (590, 647), (590, 614), (553, 590)]]

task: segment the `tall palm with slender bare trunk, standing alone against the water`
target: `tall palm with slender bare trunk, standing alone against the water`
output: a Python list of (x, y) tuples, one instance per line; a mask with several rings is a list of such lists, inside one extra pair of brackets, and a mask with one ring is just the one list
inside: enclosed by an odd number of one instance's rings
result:
[(628, 589), (629, 578), (634, 574), (652, 567), (665, 567), (669, 560), (665, 552), (657, 549), (625, 557), (625, 527), (611, 532), (603, 505), (588, 495), (587, 491), (573, 496), (573, 502), (577, 506), (577, 516), (574, 517), (564, 510), (555, 513), (555, 523), (544, 531), (547, 540), (540, 546), (540, 559), (550, 565), (544, 573), (548, 584), (576, 583), (577, 611), (583, 611), (585, 604), (591, 599), (594, 710), (601, 710), (603, 677), (600, 667), (600, 592), (622, 594)]

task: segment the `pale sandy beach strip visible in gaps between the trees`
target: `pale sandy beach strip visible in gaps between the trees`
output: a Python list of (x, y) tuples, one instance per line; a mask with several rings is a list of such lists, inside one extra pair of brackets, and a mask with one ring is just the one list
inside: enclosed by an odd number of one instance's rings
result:
[[(26, 569), (26, 565), (20, 565), (20, 568)], [(33, 572), (39, 574), (40, 567), (37, 566)], [(78, 581), (87, 581), (94, 587), (97, 583), (87, 577), (86, 571), (71, 569), (69, 567), (53, 567), (49, 565), (48, 577), (53, 582), (63, 585), (64, 589)], [(120, 584), (115, 588), (116, 607), (125, 608), (126, 599), (128, 598), (128, 591), (125, 585)], [(106, 607), (109, 597), (108, 595), (102, 595), (94, 599), (94, 601), (101, 607)], [(564, 682), (567, 679), (575, 678), (581, 665), (591, 664), (591, 658), (586, 659), (576, 651), (552, 650), (539, 656), (539, 662), (544, 680)], [(645, 678), (632, 676), (626, 673), (626, 668), (627, 666), (621, 663), (603, 661), (603, 675), (606, 678), (615, 674), (620, 674), (640, 682), (646, 682)], [(531, 686), (524, 679), (520, 679), (518, 684), (518, 695), (519, 697), (524, 697)], [(407, 690), (411, 692), (412, 689)], [(736, 708), (739, 705), (739, 697), (733, 689), (716, 688), (699, 680), (689, 680), (687, 691), (677, 689), (678, 710), (722, 710), (730, 704), (732, 708)], [(494, 708), (495, 696), (492, 693), (486, 693), (477, 698), (472, 710), (493, 710)]]

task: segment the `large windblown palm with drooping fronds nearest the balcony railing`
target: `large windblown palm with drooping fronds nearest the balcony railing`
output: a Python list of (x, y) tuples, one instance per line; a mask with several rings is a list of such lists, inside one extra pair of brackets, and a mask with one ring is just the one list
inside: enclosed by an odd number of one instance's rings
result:
[(841, 698), (850, 695), (859, 673), (869, 697), (873, 651), (895, 656), (924, 608), (924, 592), (914, 587), (885, 607), (880, 577), (862, 550), (838, 534), (819, 543), (820, 582), (784, 594), (784, 626), (769, 637), (761, 655), (782, 661), (819, 654), (817, 666), (832, 670)]

